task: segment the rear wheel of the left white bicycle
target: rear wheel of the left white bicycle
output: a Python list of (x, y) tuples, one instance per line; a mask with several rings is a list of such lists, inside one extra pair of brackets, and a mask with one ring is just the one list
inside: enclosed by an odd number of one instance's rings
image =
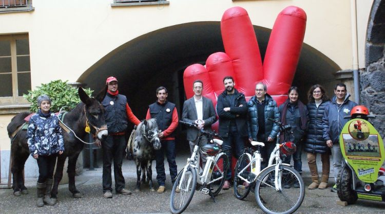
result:
[(226, 173), (228, 170), (228, 157), (226, 154), (221, 154), (217, 157), (217, 165), (214, 165), (213, 172), (211, 172), (210, 181), (216, 180), (210, 184), (211, 193), (213, 196), (217, 196), (221, 191), (224, 181), (226, 179)]

